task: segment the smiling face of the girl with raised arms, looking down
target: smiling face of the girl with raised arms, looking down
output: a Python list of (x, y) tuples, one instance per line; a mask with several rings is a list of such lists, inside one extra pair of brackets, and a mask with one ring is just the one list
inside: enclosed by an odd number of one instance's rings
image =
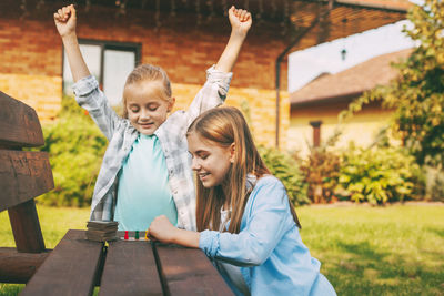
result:
[(151, 135), (167, 120), (168, 113), (174, 105), (161, 98), (162, 83), (143, 81), (125, 86), (123, 95), (127, 101), (128, 119), (141, 134)]

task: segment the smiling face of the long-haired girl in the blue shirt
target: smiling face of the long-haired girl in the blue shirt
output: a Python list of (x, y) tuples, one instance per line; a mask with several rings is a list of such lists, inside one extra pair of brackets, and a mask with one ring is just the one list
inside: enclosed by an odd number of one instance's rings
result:
[(188, 134), (186, 139), (193, 157), (191, 169), (195, 171), (202, 185), (206, 188), (221, 185), (234, 161), (234, 144), (222, 146), (195, 132)]

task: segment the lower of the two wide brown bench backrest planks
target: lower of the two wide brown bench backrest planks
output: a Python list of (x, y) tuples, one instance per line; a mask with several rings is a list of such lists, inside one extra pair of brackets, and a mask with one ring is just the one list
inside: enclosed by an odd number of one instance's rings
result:
[(0, 150), (0, 212), (53, 187), (48, 153)]

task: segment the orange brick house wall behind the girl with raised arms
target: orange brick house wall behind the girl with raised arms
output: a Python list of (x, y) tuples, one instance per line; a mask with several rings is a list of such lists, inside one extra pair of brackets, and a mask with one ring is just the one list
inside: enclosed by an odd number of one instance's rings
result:
[[(54, 119), (62, 90), (62, 43), (52, 13), (60, 4), (44, 2), (23, 17), (20, 1), (0, 3), (0, 90), (33, 106), (43, 122)], [(28, 1), (29, 6), (29, 1)], [(29, 8), (30, 9), (30, 8)], [(153, 12), (94, 7), (78, 10), (78, 37), (82, 39), (141, 43), (143, 63), (165, 69), (178, 102), (188, 105), (205, 80), (204, 71), (215, 63), (230, 33), (225, 18), (205, 19), (196, 25), (195, 14), (160, 17)], [(228, 104), (248, 102), (258, 142), (275, 141), (275, 59), (285, 48), (279, 23), (254, 24), (233, 70)], [(281, 89), (286, 90), (286, 61), (282, 64)], [(281, 143), (289, 126), (289, 95), (281, 94)], [(179, 103), (178, 103), (179, 106)], [(284, 146), (284, 145), (281, 145)]]

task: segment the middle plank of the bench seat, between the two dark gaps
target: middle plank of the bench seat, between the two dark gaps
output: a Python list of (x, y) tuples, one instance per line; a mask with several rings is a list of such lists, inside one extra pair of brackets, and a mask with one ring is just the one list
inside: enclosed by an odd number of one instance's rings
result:
[(163, 295), (149, 241), (109, 242), (99, 295)]

